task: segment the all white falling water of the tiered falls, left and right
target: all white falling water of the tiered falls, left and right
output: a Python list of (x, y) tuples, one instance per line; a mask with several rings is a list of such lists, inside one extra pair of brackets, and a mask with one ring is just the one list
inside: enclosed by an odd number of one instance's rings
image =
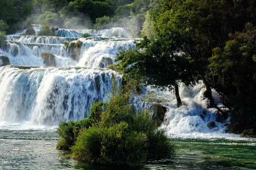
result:
[[(41, 26), (33, 26), (38, 30)], [(79, 120), (89, 113), (93, 101), (105, 100), (105, 94), (111, 89), (111, 76), (116, 73), (106, 68), (114, 63), (116, 53), (122, 48), (134, 48), (134, 41), (125, 28), (102, 30), (58, 29), (55, 32), (62, 37), (47, 36), (7, 36), (6, 47), (0, 49), (0, 55), (9, 58), (11, 64), (27, 66), (45, 66), (41, 53), (48, 51), (55, 55), (56, 67), (18, 66), (0, 68), (0, 122), (23, 122), (47, 126), (58, 125), (60, 121)], [(81, 38), (83, 33), (90, 37)], [(91, 36), (93, 35), (93, 36)], [(99, 37), (100, 35), (100, 37)], [(114, 38), (109, 39), (108, 37)], [(119, 37), (119, 38), (117, 38)], [(117, 39), (116, 39), (117, 38)], [(76, 42), (82, 42), (78, 58), (72, 58), (72, 49)], [(64, 46), (64, 41), (70, 44)], [(69, 68), (57, 68), (57, 67)], [(71, 66), (71, 67), (70, 67)], [(73, 66), (92, 68), (72, 68)], [(119, 75), (117, 75), (119, 77)], [(180, 84), (180, 97), (183, 106), (177, 108), (173, 92), (160, 91), (146, 87), (143, 93), (157, 93), (171, 99), (162, 127), (170, 136), (202, 136), (223, 134), (224, 125), (217, 122), (217, 110), (207, 108), (204, 98), (204, 86), (199, 82), (192, 89)], [(217, 93), (212, 90), (216, 103), (220, 103)], [(220, 105), (221, 106), (221, 105)], [(136, 108), (150, 108), (151, 104), (140, 102)], [(222, 107), (222, 106), (221, 106)], [(209, 129), (207, 122), (214, 121), (216, 127)]]

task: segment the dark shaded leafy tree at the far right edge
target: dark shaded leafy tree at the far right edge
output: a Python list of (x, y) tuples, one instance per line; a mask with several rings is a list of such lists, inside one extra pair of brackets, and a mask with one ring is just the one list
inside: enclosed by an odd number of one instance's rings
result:
[[(209, 58), (209, 69), (223, 82), (222, 101), (234, 107), (232, 121), (242, 132), (244, 129), (256, 129), (256, 108), (252, 104), (256, 101), (256, 27), (247, 23), (245, 32), (229, 36), (224, 49), (214, 49), (214, 55)], [(231, 100), (227, 101), (224, 96), (230, 94), (230, 89), (235, 90)]]

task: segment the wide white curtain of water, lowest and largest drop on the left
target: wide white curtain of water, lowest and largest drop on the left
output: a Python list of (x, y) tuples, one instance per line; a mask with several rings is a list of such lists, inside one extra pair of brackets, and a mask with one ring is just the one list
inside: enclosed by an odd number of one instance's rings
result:
[(112, 76), (119, 78), (108, 69), (18, 67), (0, 67), (0, 122), (54, 126), (81, 120), (93, 102), (106, 100)]

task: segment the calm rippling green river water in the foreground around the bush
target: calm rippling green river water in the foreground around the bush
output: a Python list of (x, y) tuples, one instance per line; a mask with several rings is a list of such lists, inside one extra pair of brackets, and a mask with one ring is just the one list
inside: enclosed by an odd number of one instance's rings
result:
[[(140, 167), (88, 165), (73, 160), (68, 151), (56, 150), (58, 141), (13, 138), (58, 138), (49, 130), (0, 130), (0, 170), (248, 170), (256, 169), (255, 139), (172, 138), (177, 154), (171, 160), (148, 161)], [(207, 142), (201, 144), (195, 142)], [(210, 144), (211, 142), (220, 144)], [(248, 143), (237, 145), (231, 143)]]

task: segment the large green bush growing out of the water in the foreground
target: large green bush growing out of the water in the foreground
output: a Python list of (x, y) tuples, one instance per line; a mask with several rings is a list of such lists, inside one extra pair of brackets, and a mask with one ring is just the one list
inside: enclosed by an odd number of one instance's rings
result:
[(158, 129), (157, 121), (151, 119), (149, 111), (133, 112), (129, 99), (135, 92), (134, 87), (129, 82), (122, 87), (113, 83), (109, 101), (93, 104), (85, 119), (87, 124), (83, 131), (76, 133), (79, 134), (77, 138), (70, 128), (74, 125), (65, 127), (67, 136), (60, 133), (59, 129), (64, 129), (64, 123), (61, 123), (57, 132), (65, 137), (64, 140), (69, 140), (67, 145), (74, 143), (71, 151), (75, 159), (87, 163), (136, 166), (149, 158), (169, 158), (175, 153), (174, 145), (165, 131)]

